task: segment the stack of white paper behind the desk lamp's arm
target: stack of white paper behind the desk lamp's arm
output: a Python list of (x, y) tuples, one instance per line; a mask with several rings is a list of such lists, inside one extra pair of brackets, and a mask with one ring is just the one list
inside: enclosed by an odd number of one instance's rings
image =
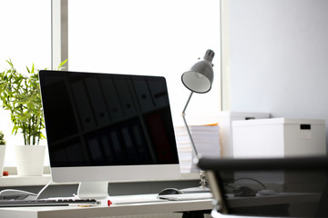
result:
[[(220, 158), (219, 125), (190, 125), (189, 127), (198, 154)], [(193, 162), (194, 153), (186, 127), (175, 127), (175, 134), (181, 173), (199, 171), (198, 167)]]

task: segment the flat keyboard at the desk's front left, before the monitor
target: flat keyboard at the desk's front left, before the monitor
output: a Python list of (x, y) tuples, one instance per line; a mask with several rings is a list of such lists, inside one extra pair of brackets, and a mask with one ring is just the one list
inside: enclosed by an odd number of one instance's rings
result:
[(24, 207), (24, 206), (68, 206), (76, 205), (94, 205), (95, 199), (77, 199), (77, 198), (47, 198), (37, 200), (6, 200), (0, 201), (0, 207)]

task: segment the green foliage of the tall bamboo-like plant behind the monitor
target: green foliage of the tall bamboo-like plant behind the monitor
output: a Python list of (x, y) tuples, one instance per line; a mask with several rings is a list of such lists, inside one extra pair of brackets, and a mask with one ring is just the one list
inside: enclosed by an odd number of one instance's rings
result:
[[(28, 74), (20, 74), (15, 70), (12, 61), (6, 60), (10, 68), (0, 73), (0, 99), (5, 110), (11, 113), (14, 124), (12, 134), (20, 129), (24, 136), (24, 144), (39, 144), (45, 135), (41, 131), (45, 128), (43, 108), (41, 104), (38, 70), (32, 64), (26, 66)], [(59, 64), (58, 70), (67, 63)]]

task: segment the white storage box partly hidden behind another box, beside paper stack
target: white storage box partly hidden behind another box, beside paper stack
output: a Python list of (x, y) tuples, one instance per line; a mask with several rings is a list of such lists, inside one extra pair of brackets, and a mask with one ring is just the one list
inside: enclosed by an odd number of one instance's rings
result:
[(232, 121), (269, 118), (268, 113), (231, 112), (219, 113), (220, 146), (222, 157), (233, 157), (232, 149)]

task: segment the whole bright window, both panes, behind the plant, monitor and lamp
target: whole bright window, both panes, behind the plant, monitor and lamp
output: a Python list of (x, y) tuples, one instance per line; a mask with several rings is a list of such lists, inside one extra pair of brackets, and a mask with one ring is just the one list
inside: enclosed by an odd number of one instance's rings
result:
[[(196, 117), (209, 120), (220, 111), (220, 1), (67, 2), (68, 70), (163, 75), (169, 86), (173, 122), (182, 125), (181, 112), (190, 91), (181, 83), (181, 74), (212, 49), (216, 53), (212, 90), (193, 95), (186, 118), (189, 123)], [(8, 58), (22, 71), (32, 63), (39, 69), (51, 67), (52, 53), (56, 53), (51, 51), (51, 4), (51, 0), (0, 3), (0, 71), (5, 70)], [(55, 45), (54, 50), (63, 46), (67, 45)], [(23, 139), (11, 135), (7, 111), (0, 110), (0, 120), (9, 145), (5, 166), (13, 166), (14, 145), (23, 144)]]

